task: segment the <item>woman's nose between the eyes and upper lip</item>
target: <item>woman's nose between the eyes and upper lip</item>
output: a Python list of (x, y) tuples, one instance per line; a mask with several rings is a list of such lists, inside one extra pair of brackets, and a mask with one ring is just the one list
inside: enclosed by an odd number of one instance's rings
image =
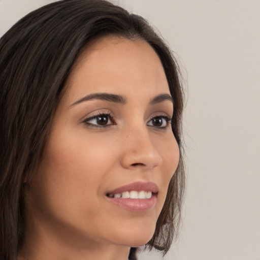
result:
[(162, 163), (163, 159), (157, 149), (156, 139), (152, 140), (146, 125), (128, 127), (123, 140), (121, 165), (124, 168), (148, 171)]

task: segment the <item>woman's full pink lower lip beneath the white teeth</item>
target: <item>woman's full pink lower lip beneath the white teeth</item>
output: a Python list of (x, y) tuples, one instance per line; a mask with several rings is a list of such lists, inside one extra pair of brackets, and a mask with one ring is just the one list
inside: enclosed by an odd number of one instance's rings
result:
[(119, 207), (136, 212), (143, 212), (152, 209), (157, 200), (156, 194), (152, 194), (150, 199), (123, 199), (110, 197), (107, 197), (107, 199)]

